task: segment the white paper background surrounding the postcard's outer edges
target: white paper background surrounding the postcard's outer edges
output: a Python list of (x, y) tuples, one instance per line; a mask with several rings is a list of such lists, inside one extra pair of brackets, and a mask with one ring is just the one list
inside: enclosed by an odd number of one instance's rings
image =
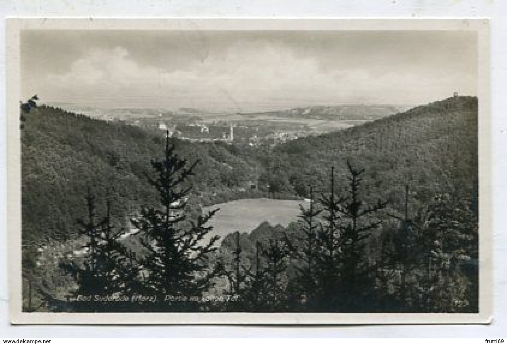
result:
[(10, 326), (8, 314), (6, 228), (5, 29), (1, 31), (0, 73), (0, 338), (86, 337), (475, 337), (502, 338), (507, 331), (507, 2), (492, 0), (285, 0), (273, 1), (15, 1), (2, 0), (6, 16), (185, 16), (185, 17), (491, 17), (492, 133), (494, 207), (494, 319), (490, 326), (361, 326), (361, 327), (239, 327), (239, 326)]

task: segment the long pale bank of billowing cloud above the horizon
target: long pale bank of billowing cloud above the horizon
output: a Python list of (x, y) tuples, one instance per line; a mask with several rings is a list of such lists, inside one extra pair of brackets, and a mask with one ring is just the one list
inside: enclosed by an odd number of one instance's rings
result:
[(47, 73), (33, 83), (46, 99), (108, 105), (195, 106), (249, 110), (305, 104), (416, 104), (474, 94), (473, 73), (422, 66), (396, 68), (328, 62), (286, 45), (236, 41), (212, 49), (183, 66), (150, 65), (126, 47), (89, 49), (63, 73)]

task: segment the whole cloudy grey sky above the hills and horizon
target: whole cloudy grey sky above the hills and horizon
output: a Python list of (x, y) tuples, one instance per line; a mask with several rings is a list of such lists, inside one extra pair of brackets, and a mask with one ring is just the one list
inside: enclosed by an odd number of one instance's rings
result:
[(23, 96), (246, 111), (477, 93), (465, 31), (24, 31)]

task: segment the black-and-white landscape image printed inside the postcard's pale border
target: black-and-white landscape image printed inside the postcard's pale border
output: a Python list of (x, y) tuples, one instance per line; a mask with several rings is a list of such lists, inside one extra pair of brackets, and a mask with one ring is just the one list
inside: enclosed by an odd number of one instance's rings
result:
[(470, 22), (21, 25), (17, 312), (487, 311)]

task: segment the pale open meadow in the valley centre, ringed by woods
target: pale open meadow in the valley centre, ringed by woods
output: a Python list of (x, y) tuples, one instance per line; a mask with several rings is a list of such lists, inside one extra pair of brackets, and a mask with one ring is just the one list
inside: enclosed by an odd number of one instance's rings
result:
[[(204, 208), (205, 211), (220, 208), (209, 221), (213, 235), (221, 238), (236, 231), (251, 232), (263, 221), (270, 224), (287, 225), (299, 215), (299, 205), (307, 206), (305, 201), (280, 201), (266, 198), (239, 200)], [(220, 243), (220, 242), (219, 242)]]

